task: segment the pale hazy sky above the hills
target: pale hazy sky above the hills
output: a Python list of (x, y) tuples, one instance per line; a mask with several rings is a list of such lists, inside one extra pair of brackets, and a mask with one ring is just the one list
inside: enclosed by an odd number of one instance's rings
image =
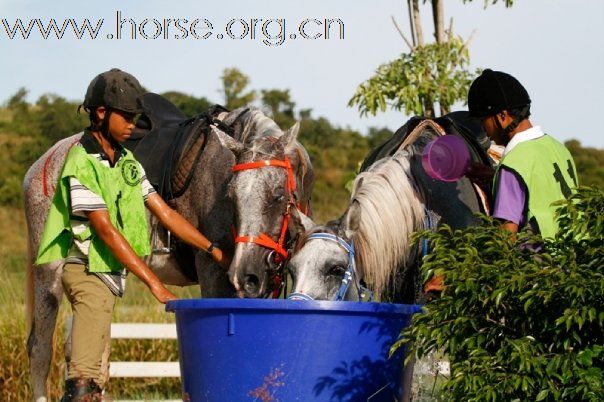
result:
[[(315, 117), (363, 133), (368, 127), (395, 130), (409, 116), (390, 111), (361, 118), (347, 105), (357, 86), (380, 64), (408, 51), (391, 21), (394, 16), (409, 36), (406, 4), (404, 0), (2, 0), (0, 102), (21, 87), (29, 90), (30, 101), (44, 93), (81, 101), (96, 74), (118, 67), (150, 91), (176, 90), (221, 103), (222, 71), (237, 67), (251, 78), (251, 89), (289, 89), (297, 108), (310, 108)], [(118, 13), (120, 20), (126, 20), (120, 32)], [(422, 8), (422, 18), (429, 40), (432, 24), (427, 6)], [(482, 0), (466, 4), (446, 0), (445, 18), (453, 18), (454, 31), (463, 38), (476, 30), (469, 44), (472, 70), (505, 71), (523, 83), (533, 100), (533, 124), (559, 140), (575, 138), (584, 146), (604, 148), (602, 128), (596, 123), (604, 110), (604, 1), (516, 0), (512, 8), (501, 1), (485, 8)], [(27, 39), (20, 33), (10, 38), (18, 19), (25, 28), (33, 24)], [(43, 26), (54, 19), (59, 27), (69, 19), (78, 26), (84, 19), (92, 27), (102, 23), (96, 39), (87, 34), (78, 39), (72, 25), (67, 25), (61, 39), (52, 33), (44, 39), (35, 19)], [(177, 19), (181, 29), (175, 26)], [(342, 22), (343, 38), (337, 21), (325, 37), (329, 19)], [(137, 27), (136, 39), (130, 20)], [(193, 27), (195, 20), (199, 22)], [(285, 33), (282, 43), (279, 32)], [(454, 110), (463, 108), (459, 103)]]

